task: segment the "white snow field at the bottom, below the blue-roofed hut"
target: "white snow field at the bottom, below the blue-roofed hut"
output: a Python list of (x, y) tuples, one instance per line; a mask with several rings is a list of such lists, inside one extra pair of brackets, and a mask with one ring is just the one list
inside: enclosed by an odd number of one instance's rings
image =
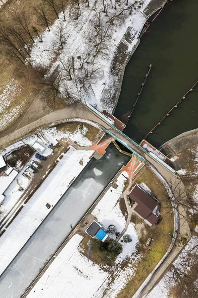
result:
[(76, 234), (28, 294), (28, 298), (97, 298), (108, 273), (78, 250), (82, 236)]

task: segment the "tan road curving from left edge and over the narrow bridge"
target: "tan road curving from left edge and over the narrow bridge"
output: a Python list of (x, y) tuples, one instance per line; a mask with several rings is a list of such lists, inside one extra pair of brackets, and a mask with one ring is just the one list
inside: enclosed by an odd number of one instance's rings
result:
[(68, 107), (65, 107), (61, 110), (54, 111), (47, 114), (43, 118), (32, 122), (20, 129), (17, 129), (15, 132), (6, 135), (0, 139), (0, 149), (3, 149), (25, 137), (34, 134), (41, 129), (52, 127), (56, 124), (79, 121), (86, 122), (99, 129), (105, 131), (115, 140), (120, 142), (127, 149), (138, 155), (142, 160), (148, 164), (156, 166), (156, 164), (166, 168), (168, 171), (175, 173), (175, 170), (172, 169), (165, 162), (160, 160), (157, 156), (151, 156), (145, 149), (143, 149), (136, 142), (127, 137), (124, 133), (118, 130), (113, 124), (109, 121), (107, 117), (99, 113), (97, 110), (88, 107), (82, 102), (74, 103)]

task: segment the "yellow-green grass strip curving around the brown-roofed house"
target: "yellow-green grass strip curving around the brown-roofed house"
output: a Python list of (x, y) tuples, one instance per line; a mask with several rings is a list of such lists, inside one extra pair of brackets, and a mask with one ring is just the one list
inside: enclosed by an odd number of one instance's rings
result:
[[(135, 292), (139, 289), (145, 279), (148, 277), (153, 268), (157, 265), (163, 255), (166, 253), (173, 234), (173, 212), (166, 209), (167, 203), (165, 199), (167, 197), (167, 191), (164, 188), (160, 180), (152, 173), (147, 167), (143, 168), (143, 171), (135, 178), (135, 183), (144, 182), (153, 195), (160, 201), (160, 221), (158, 224), (149, 226), (144, 223), (137, 215), (132, 214), (131, 221), (133, 223), (141, 224), (142, 231), (139, 244), (139, 253), (143, 256), (142, 260), (136, 266), (136, 274), (130, 279), (127, 286), (120, 292), (118, 298), (131, 298)], [(148, 237), (152, 237), (151, 245), (146, 246)]]

